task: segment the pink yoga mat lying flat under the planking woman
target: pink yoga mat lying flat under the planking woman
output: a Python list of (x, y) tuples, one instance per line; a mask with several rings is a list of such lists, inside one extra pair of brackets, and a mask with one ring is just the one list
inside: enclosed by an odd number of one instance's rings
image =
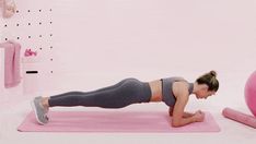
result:
[(203, 122), (181, 128), (171, 125), (163, 111), (49, 111), (49, 122), (39, 125), (30, 112), (18, 128), (21, 132), (219, 132), (220, 128), (210, 112)]

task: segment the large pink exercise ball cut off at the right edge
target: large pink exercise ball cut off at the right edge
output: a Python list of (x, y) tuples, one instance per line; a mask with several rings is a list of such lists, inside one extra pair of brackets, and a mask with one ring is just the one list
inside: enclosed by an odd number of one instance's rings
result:
[(248, 77), (245, 84), (244, 95), (249, 110), (256, 117), (256, 71)]

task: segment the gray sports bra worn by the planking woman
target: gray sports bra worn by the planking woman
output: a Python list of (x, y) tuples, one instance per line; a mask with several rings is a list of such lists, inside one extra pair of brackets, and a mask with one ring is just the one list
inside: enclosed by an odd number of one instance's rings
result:
[[(164, 101), (167, 106), (173, 107), (176, 101), (176, 97), (173, 94), (173, 83), (183, 80), (178, 77), (166, 77), (166, 79), (161, 79), (161, 81), (162, 81), (162, 96), (163, 96), (162, 101)], [(188, 84), (189, 84), (188, 93), (190, 95), (193, 93), (194, 84), (193, 83)]]

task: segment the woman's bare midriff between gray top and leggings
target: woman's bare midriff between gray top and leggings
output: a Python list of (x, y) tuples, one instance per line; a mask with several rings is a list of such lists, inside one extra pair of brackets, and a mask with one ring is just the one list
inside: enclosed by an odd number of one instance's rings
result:
[(150, 89), (152, 92), (150, 101), (162, 101), (162, 81), (155, 80), (149, 82)]

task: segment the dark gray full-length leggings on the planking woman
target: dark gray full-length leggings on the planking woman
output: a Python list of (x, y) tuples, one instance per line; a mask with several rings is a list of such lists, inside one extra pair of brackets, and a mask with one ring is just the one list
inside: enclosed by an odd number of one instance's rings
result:
[(125, 79), (119, 83), (93, 92), (69, 92), (50, 96), (49, 107), (85, 106), (102, 108), (123, 108), (131, 104), (149, 103), (149, 83), (137, 79)]

